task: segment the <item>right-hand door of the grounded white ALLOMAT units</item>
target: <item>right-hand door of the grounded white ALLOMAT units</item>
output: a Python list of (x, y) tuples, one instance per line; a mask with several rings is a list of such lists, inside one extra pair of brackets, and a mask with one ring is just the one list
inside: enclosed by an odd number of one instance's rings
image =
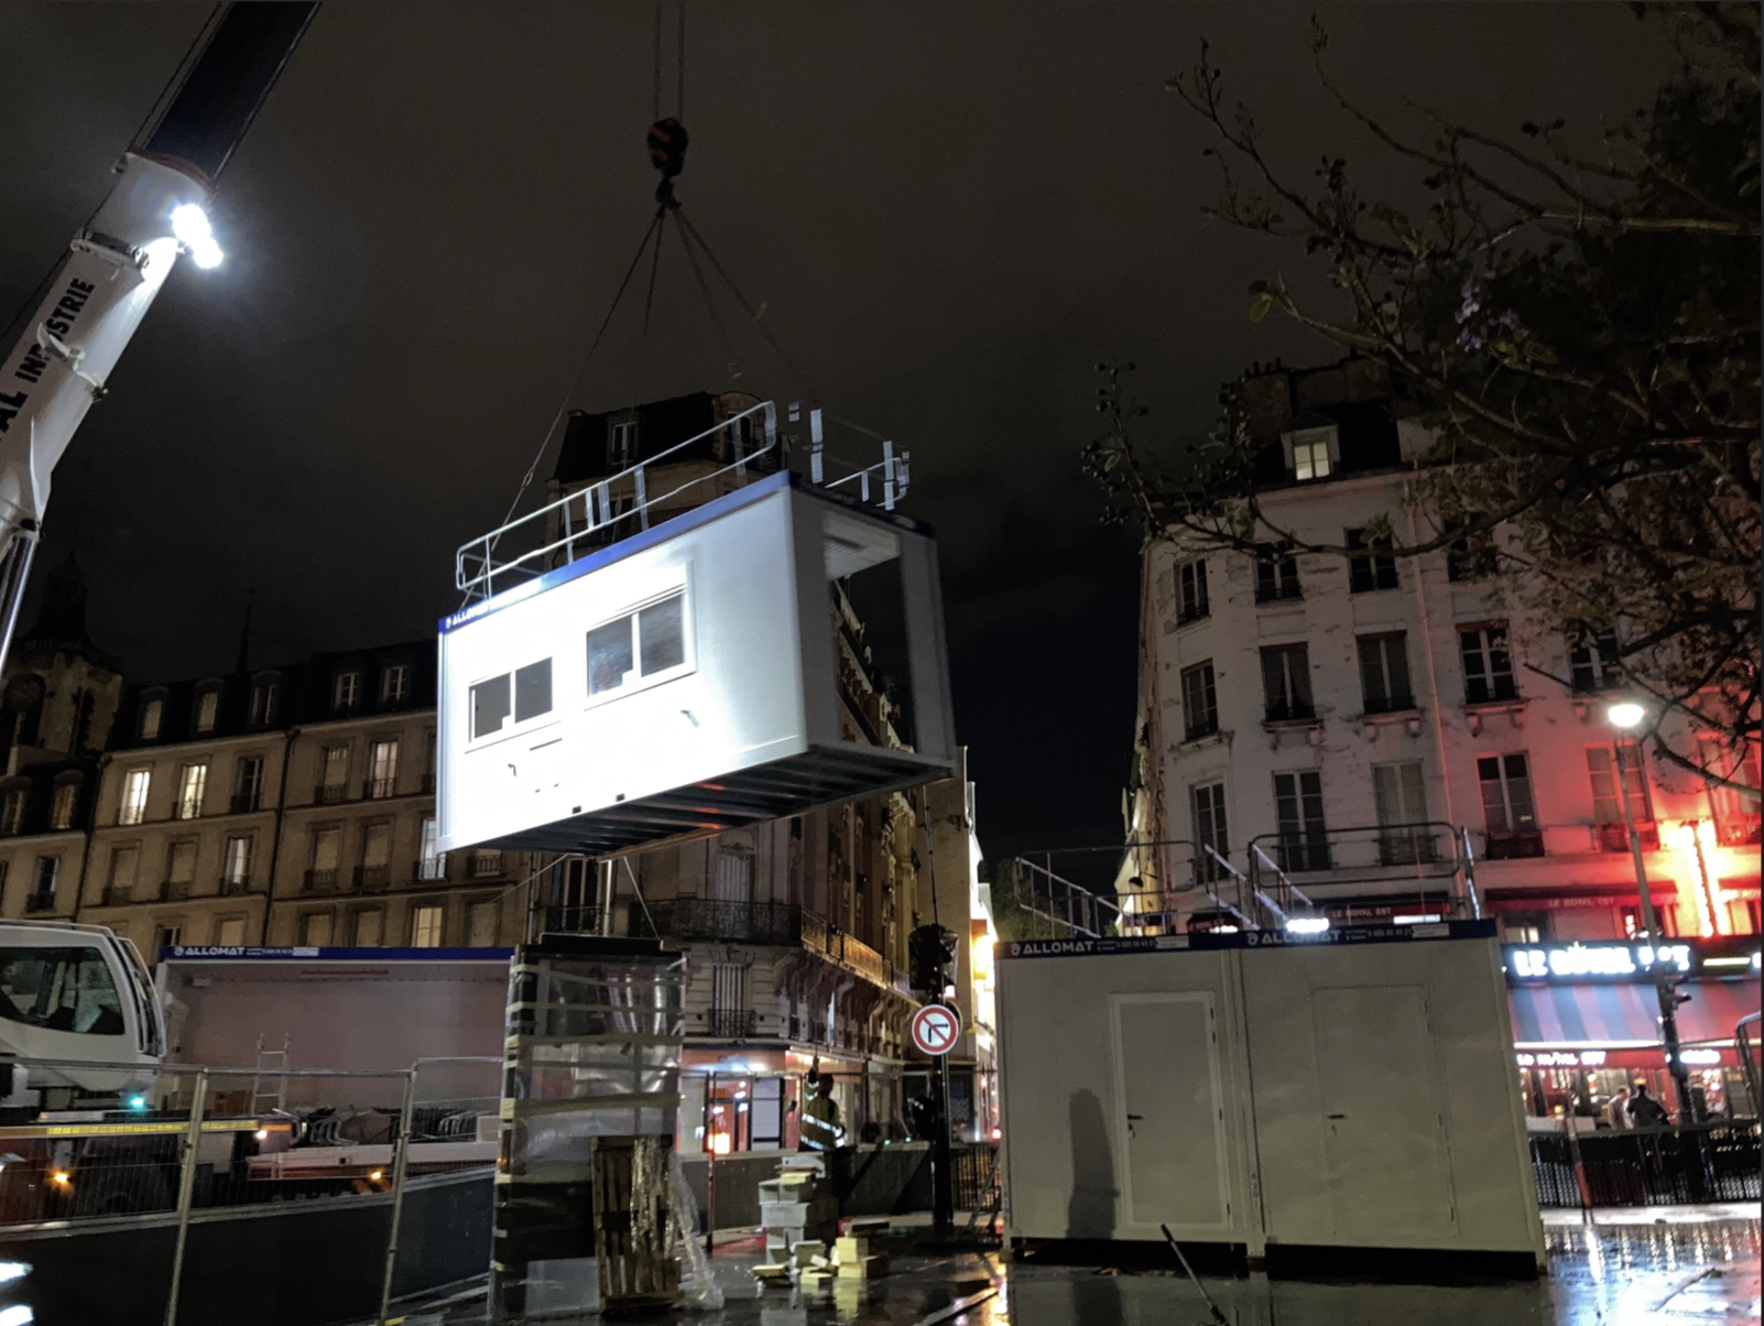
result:
[(1420, 986), (1311, 994), (1335, 1229), (1369, 1243), (1457, 1225)]

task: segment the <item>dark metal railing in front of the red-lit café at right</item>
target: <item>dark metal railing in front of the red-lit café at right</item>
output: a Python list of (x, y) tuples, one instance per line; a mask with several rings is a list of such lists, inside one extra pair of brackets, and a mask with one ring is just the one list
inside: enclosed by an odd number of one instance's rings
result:
[(1759, 1121), (1531, 1134), (1538, 1204), (1759, 1201)]

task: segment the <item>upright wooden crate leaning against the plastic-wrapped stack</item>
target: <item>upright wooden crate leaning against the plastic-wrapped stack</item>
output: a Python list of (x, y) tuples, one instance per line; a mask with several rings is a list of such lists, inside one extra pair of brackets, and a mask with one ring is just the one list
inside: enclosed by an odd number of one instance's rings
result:
[(594, 1259), (602, 1312), (681, 1303), (669, 1204), (672, 1137), (594, 1137)]

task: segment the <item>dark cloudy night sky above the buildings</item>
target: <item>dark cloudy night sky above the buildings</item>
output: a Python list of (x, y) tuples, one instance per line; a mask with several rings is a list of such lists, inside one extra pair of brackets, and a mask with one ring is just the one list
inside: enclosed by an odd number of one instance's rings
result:
[[(7, 316), (208, 12), (0, 5)], [(1122, 832), (1140, 587), (1078, 471), (1095, 361), (1140, 363), (1147, 436), (1175, 450), (1251, 360), (1332, 358), (1249, 323), (1249, 280), (1309, 268), (1201, 215), (1205, 129), (1164, 92), (1208, 37), (1295, 173), (1374, 155), (1316, 86), (1312, 12), (1342, 81), (1399, 115), (1621, 115), (1665, 67), (1619, 5), (688, 11), (679, 196), (808, 384), (725, 307), (730, 377), (670, 243), (646, 354), (628, 300), (568, 404), (813, 393), (912, 451), (990, 857)], [(457, 607), (453, 548), (501, 520), (654, 206), (653, 25), (649, 4), (319, 12), (222, 180), (226, 266), (180, 264), (55, 476), (39, 571), (78, 541), (131, 679), (231, 668), (249, 587), (254, 665)]]

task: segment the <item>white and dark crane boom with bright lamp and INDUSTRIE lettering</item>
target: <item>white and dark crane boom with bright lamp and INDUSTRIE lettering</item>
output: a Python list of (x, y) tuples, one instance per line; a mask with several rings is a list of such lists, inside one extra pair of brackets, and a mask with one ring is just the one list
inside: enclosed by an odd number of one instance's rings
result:
[(180, 250), (220, 261), (205, 205), (316, 4), (229, 5), (109, 197), (81, 227), (16, 346), (0, 360), (0, 667), (12, 647), (49, 476), (104, 395)]

